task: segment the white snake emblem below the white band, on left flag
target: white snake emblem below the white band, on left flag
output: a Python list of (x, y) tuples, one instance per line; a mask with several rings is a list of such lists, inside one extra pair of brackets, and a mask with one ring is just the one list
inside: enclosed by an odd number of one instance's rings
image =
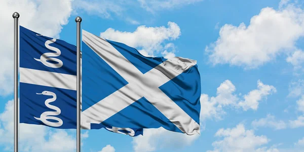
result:
[[(46, 111), (43, 112), (40, 116), (40, 118), (34, 117), (36, 120), (42, 121), (44, 124), (51, 126), (51, 127), (60, 127), (62, 126), (63, 122), (60, 118), (54, 117), (58, 116), (61, 113), (60, 108), (54, 105), (50, 105), (51, 102), (54, 102), (57, 99), (57, 96), (55, 93), (50, 92), (50, 91), (43, 91), (42, 93), (36, 93), (36, 94), (42, 94), (42, 95), (47, 95), (47, 96), (53, 96), (53, 98), (47, 99), (45, 101), (45, 104), (48, 108), (56, 110), (56, 111)], [(57, 122), (50, 122), (48, 120), (55, 120)]]

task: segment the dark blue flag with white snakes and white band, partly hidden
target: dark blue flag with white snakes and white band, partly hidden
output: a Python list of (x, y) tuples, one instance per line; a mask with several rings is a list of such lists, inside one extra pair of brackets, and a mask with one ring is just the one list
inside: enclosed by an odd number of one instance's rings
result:
[[(20, 123), (77, 128), (76, 52), (74, 45), (20, 26)], [(112, 132), (127, 130), (122, 132), (133, 136), (143, 131), (99, 128)]]

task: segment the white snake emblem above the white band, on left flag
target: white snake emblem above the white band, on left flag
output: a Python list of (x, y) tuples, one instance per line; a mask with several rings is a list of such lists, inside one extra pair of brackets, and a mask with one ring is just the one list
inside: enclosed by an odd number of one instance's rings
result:
[[(36, 34), (36, 35), (42, 36), (40, 34)], [(61, 54), (61, 51), (58, 48), (49, 46), (50, 44), (55, 43), (55, 42), (56, 42), (56, 39), (48, 40), (48, 41), (46, 41), (45, 46), (49, 50), (55, 51), (56, 53), (44, 53), (43, 55), (41, 55), (40, 59), (36, 59), (36, 58), (34, 58), (34, 59), (36, 61), (43, 63), (45, 66), (48, 66), (48, 67), (52, 67), (52, 68), (61, 67), (63, 65), (62, 61), (57, 58), (54, 58), (54, 57), (59, 56)], [(57, 63), (51, 63), (48, 61), (55, 61)]]

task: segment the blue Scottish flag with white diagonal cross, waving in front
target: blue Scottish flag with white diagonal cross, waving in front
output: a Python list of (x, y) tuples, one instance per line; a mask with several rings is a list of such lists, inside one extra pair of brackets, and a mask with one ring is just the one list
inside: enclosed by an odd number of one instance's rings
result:
[(82, 123), (200, 131), (201, 83), (195, 60), (144, 57), (82, 30)]

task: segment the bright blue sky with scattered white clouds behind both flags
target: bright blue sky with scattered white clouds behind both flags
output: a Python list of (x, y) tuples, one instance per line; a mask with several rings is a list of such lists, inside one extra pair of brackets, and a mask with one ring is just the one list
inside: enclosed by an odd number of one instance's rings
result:
[[(13, 150), (13, 18), (76, 44), (82, 29), (145, 56), (197, 60), (200, 135), (82, 130), (82, 151), (304, 149), (304, 2), (293, 0), (2, 0), (0, 151)], [(75, 151), (75, 130), (20, 124), (20, 151)]]

